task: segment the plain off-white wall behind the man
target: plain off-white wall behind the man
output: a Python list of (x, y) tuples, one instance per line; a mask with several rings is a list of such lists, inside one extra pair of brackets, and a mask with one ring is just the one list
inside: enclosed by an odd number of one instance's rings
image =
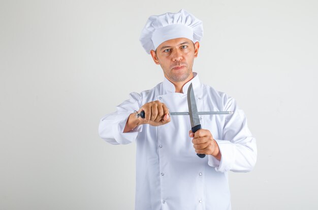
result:
[[(100, 119), (163, 81), (139, 43), (150, 15), (203, 21), (194, 71), (257, 139), (230, 172), (238, 209), (317, 209), (317, 1), (0, 1), (0, 210), (134, 209), (135, 143)], [(213, 134), (213, 132), (212, 132)]]

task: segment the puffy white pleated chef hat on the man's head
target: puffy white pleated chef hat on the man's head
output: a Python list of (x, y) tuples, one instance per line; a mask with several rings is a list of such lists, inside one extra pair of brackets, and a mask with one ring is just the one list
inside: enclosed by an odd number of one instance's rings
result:
[(181, 9), (177, 13), (151, 15), (142, 29), (139, 41), (150, 54), (150, 50), (155, 50), (167, 40), (187, 38), (195, 43), (200, 41), (202, 36), (202, 21)]

